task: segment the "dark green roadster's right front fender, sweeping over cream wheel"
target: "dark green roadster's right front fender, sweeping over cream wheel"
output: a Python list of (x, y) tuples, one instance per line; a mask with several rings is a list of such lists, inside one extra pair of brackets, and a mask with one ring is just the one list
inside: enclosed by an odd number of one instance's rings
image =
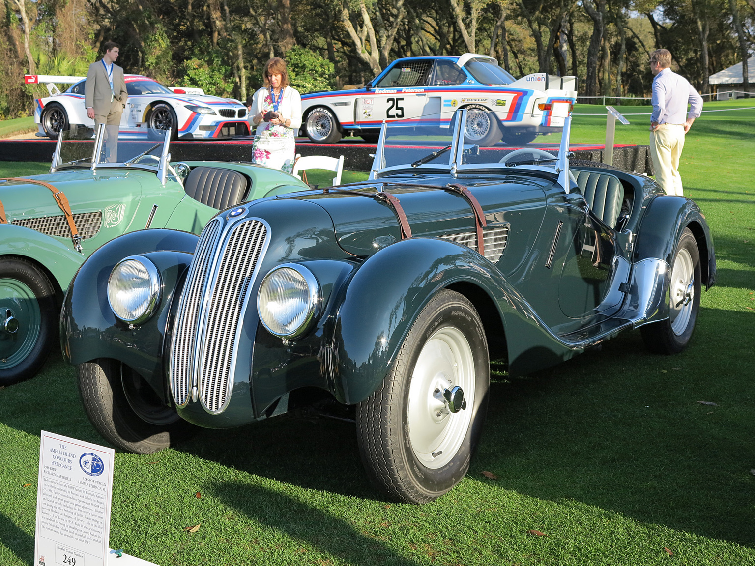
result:
[[(485, 257), (440, 238), (411, 238), (374, 254), (344, 288), (334, 323), (337, 396), (364, 401), (377, 389), (430, 297), (443, 288), (482, 291), (506, 334), (510, 372), (524, 374), (574, 355)], [(464, 291), (461, 291), (464, 293)], [(470, 297), (471, 298), (471, 297)], [(486, 326), (501, 328), (501, 325)], [(488, 337), (488, 341), (490, 337)]]

